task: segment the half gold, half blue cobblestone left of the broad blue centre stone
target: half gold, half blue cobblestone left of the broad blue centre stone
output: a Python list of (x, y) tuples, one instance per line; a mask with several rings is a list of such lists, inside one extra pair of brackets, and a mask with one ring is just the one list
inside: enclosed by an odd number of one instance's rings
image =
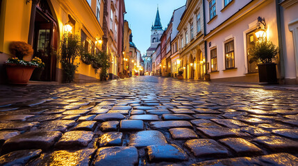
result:
[(99, 147), (121, 146), (123, 133), (108, 132), (99, 138)]

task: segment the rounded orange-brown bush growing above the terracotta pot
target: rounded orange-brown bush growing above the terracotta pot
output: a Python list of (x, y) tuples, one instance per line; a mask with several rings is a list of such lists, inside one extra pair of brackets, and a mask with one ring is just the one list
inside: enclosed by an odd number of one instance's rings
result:
[(33, 55), (33, 48), (26, 42), (10, 42), (9, 51), (20, 60), (23, 60), (26, 56)]

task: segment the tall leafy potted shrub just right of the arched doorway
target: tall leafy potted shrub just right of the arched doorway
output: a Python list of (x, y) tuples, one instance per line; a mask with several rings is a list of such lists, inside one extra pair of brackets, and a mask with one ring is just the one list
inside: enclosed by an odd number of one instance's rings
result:
[(65, 35), (61, 41), (60, 60), (63, 68), (63, 82), (74, 81), (74, 73), (79, 63), (74, 64), (76, 57), (81, 55), (81, 44), (78, 35)]

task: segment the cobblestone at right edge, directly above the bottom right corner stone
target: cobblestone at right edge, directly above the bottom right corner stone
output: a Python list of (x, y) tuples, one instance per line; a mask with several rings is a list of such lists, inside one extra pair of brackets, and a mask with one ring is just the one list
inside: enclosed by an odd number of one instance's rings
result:
[(298, 149), (297, 141), (280, 136), (260, 136), (254, 138), (253, 141), (272, 151), (295, 151)]

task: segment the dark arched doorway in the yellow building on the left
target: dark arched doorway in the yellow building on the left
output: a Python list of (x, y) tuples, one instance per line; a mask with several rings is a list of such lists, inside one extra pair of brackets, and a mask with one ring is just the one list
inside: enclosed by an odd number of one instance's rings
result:
[(33, 35), (34, 57), (44, 62), (44, 70), (36, 81), (57, 81), (58, 27), (48, 1), (40, 1), (36, 7)]

